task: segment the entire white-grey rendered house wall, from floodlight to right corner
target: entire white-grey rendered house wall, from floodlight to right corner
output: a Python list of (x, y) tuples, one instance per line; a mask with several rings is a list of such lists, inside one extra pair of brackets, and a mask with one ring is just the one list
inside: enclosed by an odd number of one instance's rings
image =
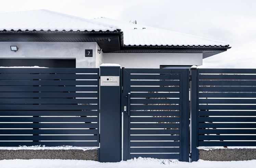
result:
[[(11, 51), (17, 46), (18, 51)], [(85, 49), (93, 57), (85, 57)], [(159, 68), (160, 65), (202, 65), (202, 54), (186, 53), (103, 53), (96, 42), (0, 42), (1, 58), (76, 59), (77, 68), (100, 67), (103, 63), (126, 68)]]

